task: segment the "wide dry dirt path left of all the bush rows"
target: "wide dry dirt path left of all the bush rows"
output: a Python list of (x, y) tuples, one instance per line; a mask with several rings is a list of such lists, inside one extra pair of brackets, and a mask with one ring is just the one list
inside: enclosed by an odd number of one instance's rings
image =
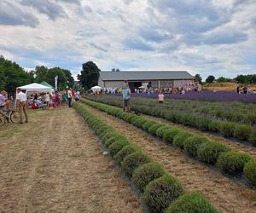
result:
[(73, 109), (29, 118), (0, 130), (0, 212), (143, 212)]

